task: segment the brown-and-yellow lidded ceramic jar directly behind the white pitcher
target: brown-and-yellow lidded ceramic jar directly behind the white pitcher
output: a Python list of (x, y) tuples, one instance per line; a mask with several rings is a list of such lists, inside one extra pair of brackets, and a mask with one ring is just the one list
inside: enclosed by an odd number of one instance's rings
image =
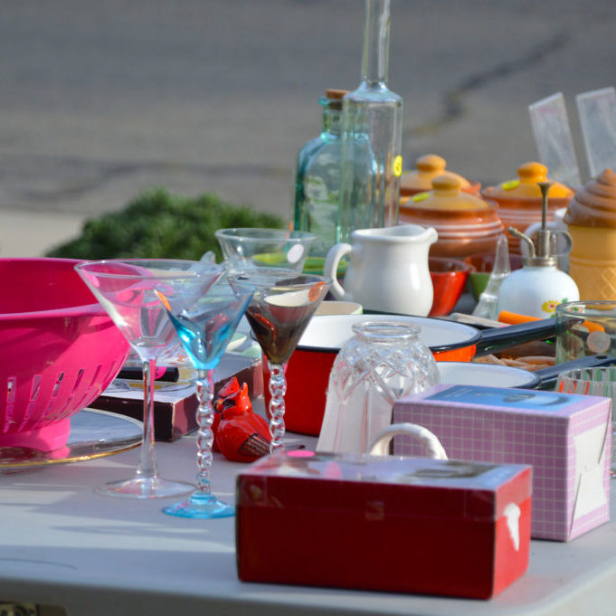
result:
[(400, 205), (400, 222), (434, 227), (439, 234), (431, 257), (464, 258), (496, 251), (498, 236), (505, 228), (498, 218), (498, 205), (478, 195), (464, 193), (460, 180), (439, 175), (432, 190), (412, 196)]

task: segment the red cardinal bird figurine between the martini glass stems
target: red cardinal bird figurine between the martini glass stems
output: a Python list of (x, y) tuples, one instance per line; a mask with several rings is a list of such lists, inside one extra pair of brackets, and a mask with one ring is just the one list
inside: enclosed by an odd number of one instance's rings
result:
[(248, 384), (240, 387), (233, 377), (220, 391), (214, 410), (214, 441), (227, 460), (251, 462), (270, 452), (270, 427), (252, 411)]

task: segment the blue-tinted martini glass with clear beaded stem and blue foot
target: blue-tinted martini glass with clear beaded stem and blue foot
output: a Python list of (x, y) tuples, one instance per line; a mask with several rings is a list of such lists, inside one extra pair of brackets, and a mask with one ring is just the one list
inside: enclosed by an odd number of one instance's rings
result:
[(163, 509), (171, 516), (208, 518), (235, 514), (235, 507), (213, 495), (210, 481), (213, 371), (251, 301), (253, 290), (233, 289), (226, 280), (220, 280), (203, 298), (187, 308), (183, 308), (182, 302), (168, 300), (160, 294), (185, 353), (197, 372), (197, 488), (188, 500)]

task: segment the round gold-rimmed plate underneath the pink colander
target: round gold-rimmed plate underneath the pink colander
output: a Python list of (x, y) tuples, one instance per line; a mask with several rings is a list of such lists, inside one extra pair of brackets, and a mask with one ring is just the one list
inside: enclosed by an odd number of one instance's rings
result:
[(71, 418), (64, 447), (52, 451), (0, 447), (0, 474), (103, 458), (137, 447), (142, 436), (142, 422), (115, 412), (83, 409)]

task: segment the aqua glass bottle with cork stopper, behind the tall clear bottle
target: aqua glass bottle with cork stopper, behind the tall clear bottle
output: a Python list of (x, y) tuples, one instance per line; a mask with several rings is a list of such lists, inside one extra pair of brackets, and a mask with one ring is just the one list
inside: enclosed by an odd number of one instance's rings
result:
[(295, 176), (294, 228), (317, 235), (310, 256), (325, 257), (336, 243), (340, 194), (340, 119), (347, 90), (326, 90), (318, 100), (323, 124), (318, 137), (299, 150)]

